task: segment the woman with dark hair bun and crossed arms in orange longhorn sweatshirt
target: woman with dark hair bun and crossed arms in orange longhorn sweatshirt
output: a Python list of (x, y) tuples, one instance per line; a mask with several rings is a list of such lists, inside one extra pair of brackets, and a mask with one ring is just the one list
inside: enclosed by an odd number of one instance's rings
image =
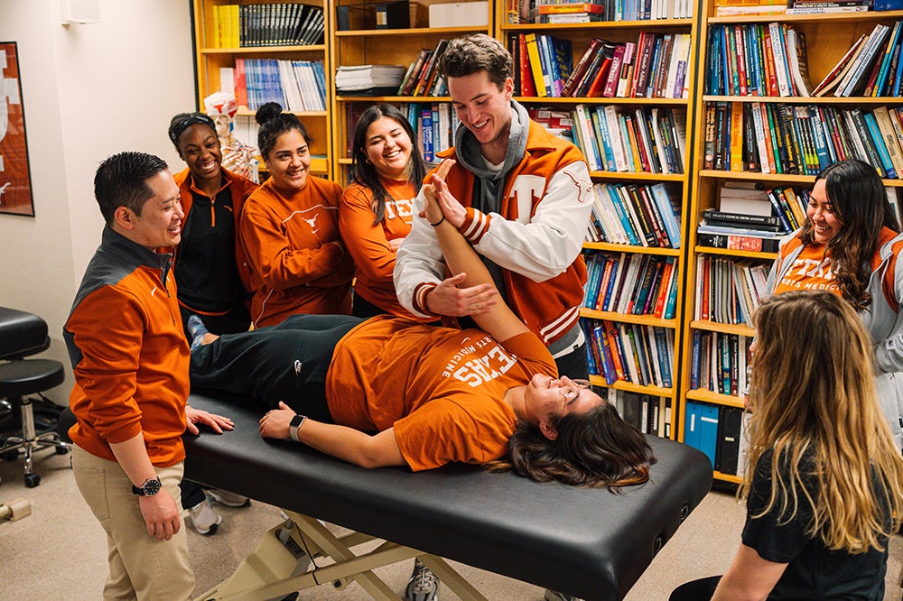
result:
[(270, 179), (245, 203), (240, 235), (256, 328), (296, 313), (348, 315), (354, 264), (339, 236), (338, 184), (309, 177), (310, 136), (276, 103), (257, 110)]

